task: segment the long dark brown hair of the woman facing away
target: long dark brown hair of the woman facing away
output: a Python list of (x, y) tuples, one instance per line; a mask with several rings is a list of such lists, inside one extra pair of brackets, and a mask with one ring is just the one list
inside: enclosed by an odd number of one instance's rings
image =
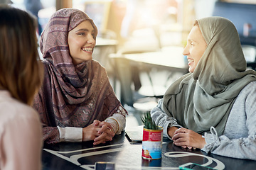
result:
[(43, 79), (36, 26), (26, 11), (0, 6), (0, 89), (29, 105)]

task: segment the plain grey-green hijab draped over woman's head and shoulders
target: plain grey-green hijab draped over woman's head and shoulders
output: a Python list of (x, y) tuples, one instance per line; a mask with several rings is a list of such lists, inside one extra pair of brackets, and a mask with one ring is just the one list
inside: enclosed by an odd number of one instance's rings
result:
[(256, 72), (246, 70), (238, 31), (226, 18), (198, 20), (208, 46), (193, 73), (171, 84), (164, 94), (164, 112), (179, 125), (198, 133), (213, 126), (222, 135), (235, 98)]

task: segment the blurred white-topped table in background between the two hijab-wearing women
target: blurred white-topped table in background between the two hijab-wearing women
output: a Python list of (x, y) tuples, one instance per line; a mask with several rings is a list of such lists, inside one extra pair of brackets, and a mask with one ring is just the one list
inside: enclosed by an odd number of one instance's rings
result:
[(149, 72), (152, 68), (168, 70), (172, 74), (188, 73), (188, 64), (182, 53), (183, 47), (173, 46), (162, 48), (156, 52), (111, 55), (110, 60), (112, 60), (116, 77), (121, 84), (120, 101), (122, 105), (133, 106), (134, 104), (133, 89), (131, 89), (134, 74)]

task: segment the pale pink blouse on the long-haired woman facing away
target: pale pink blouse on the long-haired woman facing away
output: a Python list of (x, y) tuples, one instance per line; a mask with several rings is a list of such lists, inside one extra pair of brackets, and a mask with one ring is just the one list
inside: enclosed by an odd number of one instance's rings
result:
[(41, 169), (42, 147), (38, 113), (0, 90), (0, 169)]

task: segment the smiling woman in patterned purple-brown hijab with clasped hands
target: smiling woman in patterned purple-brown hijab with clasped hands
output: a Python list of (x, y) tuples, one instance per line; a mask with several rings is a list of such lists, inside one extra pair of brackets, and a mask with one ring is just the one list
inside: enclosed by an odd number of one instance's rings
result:
[(47, 143), (112, 140), (125, 127), (124, 110), (99, 62), (92, 60), (97, 28), (86, 13), (63, 8), (41, 34), (45, 79), (33, 107)]

